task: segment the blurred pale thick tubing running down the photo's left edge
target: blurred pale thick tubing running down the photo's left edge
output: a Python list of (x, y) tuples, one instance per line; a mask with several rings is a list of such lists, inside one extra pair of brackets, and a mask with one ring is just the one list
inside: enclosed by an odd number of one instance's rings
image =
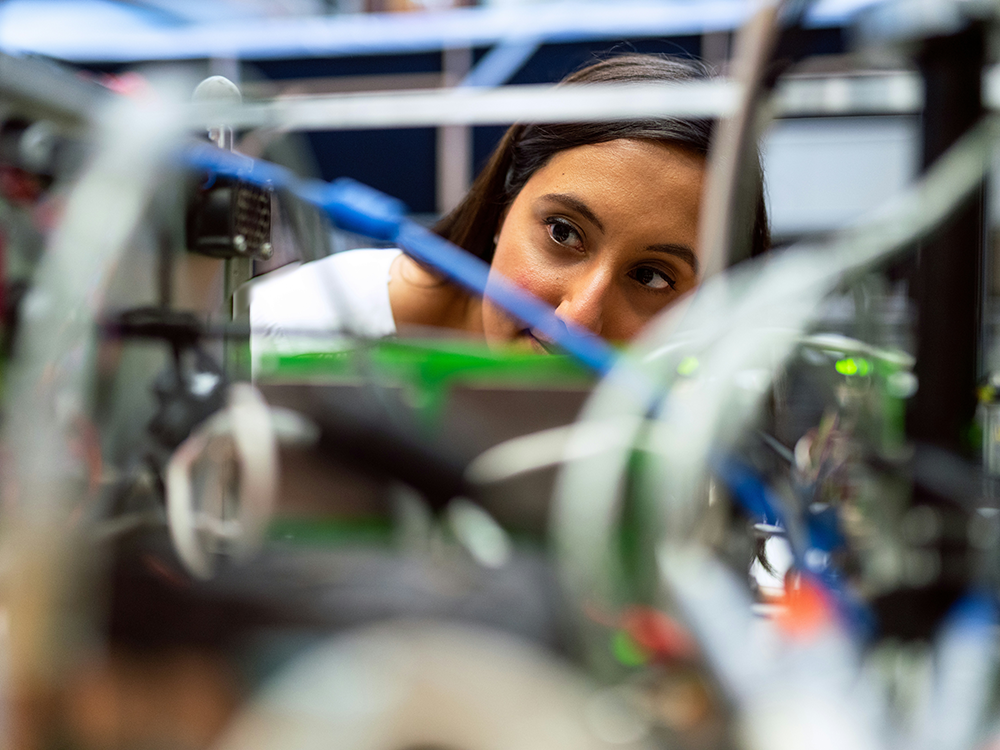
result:
[[(3, 650), (17, 655), (10, 685), (16, 699), (55, 689), (101, 620), (100, 597), (87, 596), (101, 570), (100, 552), (85, 535), (100, 503), (88, 489), (80, 450), (82, 426), (93, 414), (94, 322), (110, 273), (157, 186), (174, 177), (164, 165), (183, 121), (179, 98), (170, 93), (163, 87), (120, 97), (95, 116), (94, 153), (68, 195), (22, 306), (4, 388), (0, 466), (0, 554), (11, 618)], [(36, 722), (34, 728), (42, 727)], [(0, 726), (0, 745), (12, 744), (8, 727)]]

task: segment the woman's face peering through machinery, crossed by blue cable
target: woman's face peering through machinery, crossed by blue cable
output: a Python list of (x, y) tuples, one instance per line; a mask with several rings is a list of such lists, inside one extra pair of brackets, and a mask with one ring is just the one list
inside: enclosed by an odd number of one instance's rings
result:
[[(683, 148), (620, 139), (561, 151), (525, 183), (497, 237), (492, 272), (556, 314), (627, 341), (698, 283), (705, 160)], [(489, 342), (548, 342), (483, 303)]]

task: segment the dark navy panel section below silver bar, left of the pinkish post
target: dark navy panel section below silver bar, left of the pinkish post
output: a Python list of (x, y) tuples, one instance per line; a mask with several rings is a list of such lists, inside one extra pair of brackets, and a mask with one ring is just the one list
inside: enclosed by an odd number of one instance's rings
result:
[(435, 210), (435, 131), (338, 130), (309, 133), (324, 180), (353, 177), (402, 200), (411, 211)]

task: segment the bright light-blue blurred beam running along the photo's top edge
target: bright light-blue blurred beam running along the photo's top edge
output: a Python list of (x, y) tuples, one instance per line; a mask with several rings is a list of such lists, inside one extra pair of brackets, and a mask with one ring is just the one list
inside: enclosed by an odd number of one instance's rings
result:
[[(821, 0), (813, 26), (847, 23), (876, 0)], [(97, 6), (91, 0), (81, 6)], [(104, 5), (113, 5), (103, 3)], [(551, 3), (478, 7), (423, 13), (249, 18), (187, 25), (155, 25), (148, 9), (131, 22), (107, 14), (73, 13), (72, 3), (8, 0), (0, 5), (0, 50), (70, 62), (140, 62), (237, 58), (247, 60), (427, 52), (492, 46), (501, 41), (575, 42), (650, 38), (731, 30), (746, 18), (747, 0)], [(37, 8), (32, 17), (31, 6)], [(120, 11), (127, 6), (115, 6)], [(142, 16), (138, 11), (144, 11)]]

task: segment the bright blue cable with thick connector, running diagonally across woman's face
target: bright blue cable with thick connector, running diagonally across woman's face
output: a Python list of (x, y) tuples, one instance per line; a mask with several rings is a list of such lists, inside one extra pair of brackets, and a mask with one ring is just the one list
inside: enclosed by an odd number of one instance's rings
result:
[(262, 187), (289, 190), (322, 209), (342, 229), (397, 244), (464, 289), (490, 299), (602, 375), (618, 359), (618, 353), (599, 336), (557, 317), (549, 305), (499, 274), (490, 278), (488, 263), (407, 219), (401, 201), (374, 188), (349, 178), (303, 180), (276, 164), (208, 145), (190, 147), (184, 161)]

